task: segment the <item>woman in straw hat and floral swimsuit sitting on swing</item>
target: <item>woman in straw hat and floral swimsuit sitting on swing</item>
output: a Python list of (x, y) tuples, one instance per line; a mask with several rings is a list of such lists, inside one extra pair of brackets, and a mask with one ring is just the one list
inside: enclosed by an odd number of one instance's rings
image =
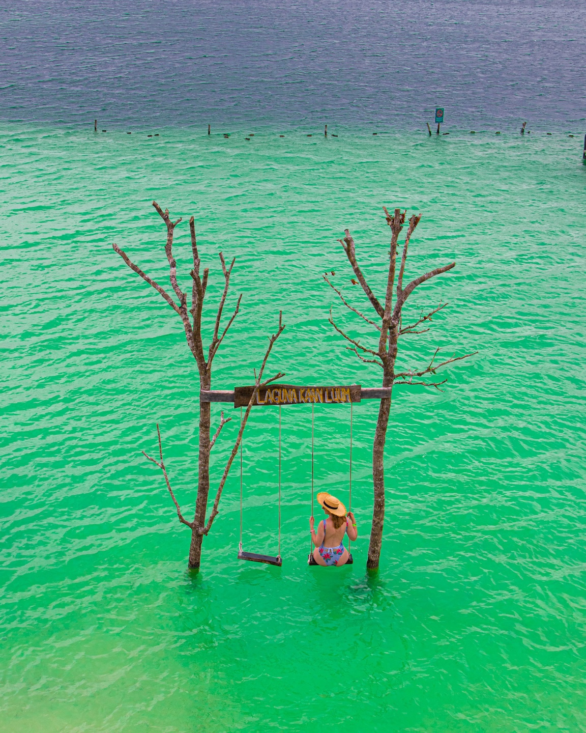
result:
[(355, 542), (358, 537), (355, 516), (348, 512), (346, 507), (335, 496), (321, 491), (317, 495), (317, 501), (322, 505), (327, 519), (319, 523), (317, 531), (314, 530), (314, 517), (309, 517), (309, 528), (311, 530), (311, 541), (316, 546), (314, 559), (318, 565), (344, 565), (349, 558), (348, 550), (344, 547), (342, 540), (344, 534), (348, 539)]

